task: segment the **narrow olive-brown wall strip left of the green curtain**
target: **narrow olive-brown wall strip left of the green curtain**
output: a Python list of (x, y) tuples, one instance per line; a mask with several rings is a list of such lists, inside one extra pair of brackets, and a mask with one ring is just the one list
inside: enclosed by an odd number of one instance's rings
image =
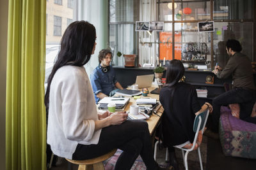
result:
[(0, 165), (5, 169), (5, 95), (8, 0), (0, 1)]

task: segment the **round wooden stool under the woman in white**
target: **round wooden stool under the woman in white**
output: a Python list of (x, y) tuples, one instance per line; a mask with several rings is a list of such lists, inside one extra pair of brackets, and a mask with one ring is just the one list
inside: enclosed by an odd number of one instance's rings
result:
[(112, 150), (109, 153), (106, 153), (105, 155), (102, 155), (97, 158), (93, 159), (86, 159), (86, 160), (71, 160), (67, 159), (68, 162), (71, 162), (73, 164), (79, 165), (78, 170), (91, 170), (92, 167), (93, 169), (99, 169), (99, 170), (104, 170), (104, 166), (102, 161), (109, 159), (116, 153), (116, 149)]

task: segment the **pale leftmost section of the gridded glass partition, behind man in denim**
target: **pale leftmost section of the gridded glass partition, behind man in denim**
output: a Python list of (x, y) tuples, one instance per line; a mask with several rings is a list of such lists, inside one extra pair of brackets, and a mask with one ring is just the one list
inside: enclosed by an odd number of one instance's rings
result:
[(138, 41), (135, 21), (138, 20), (138, 6), (136, 0), (109, 1), (109, 47), (113, 51), (113, 65), (123, 66), (123, 57), (117, 57), (118, 51), (125, 54), (136, 53)]

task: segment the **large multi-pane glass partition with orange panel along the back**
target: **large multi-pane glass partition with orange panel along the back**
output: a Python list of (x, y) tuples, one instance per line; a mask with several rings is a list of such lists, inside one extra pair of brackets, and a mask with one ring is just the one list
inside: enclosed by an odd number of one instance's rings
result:
[[(255, 60), (253, 5), (252, 0), (109, 0), (109, 46), (116, 52), (136, 52), (141, 66), (156, 66), (157, 59), (161, 64), (180, 59), (213, 69), (216, 62), (222, 67), (227, 64), (225, 42), (235, 38), (243, 46), (242, 53)], [(136, 32), (136, 21), (164, 22), (164, 31)], [(198, 22), (214, 31), (199, 32)], [(123, 66), (117, 60), (114, 64)]]

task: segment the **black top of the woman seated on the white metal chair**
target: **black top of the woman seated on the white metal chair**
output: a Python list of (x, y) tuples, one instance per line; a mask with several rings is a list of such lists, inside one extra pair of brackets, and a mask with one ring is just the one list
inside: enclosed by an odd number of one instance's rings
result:
[(163, 142), (167, 146), (180, 145), (186, 141), (193, 143), (195, 113), (201, 109), (195, 87), (183, 82), (177, 83), (173, 98), (172, 90), (163, 87), (159, 96), (164, 108)]

